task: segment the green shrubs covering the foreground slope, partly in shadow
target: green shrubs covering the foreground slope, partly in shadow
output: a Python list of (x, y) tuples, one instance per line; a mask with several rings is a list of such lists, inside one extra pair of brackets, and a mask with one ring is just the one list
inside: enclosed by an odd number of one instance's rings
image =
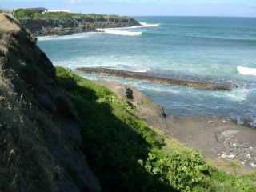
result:
[(57, 68), (58, 83), (81, 119), (83, 145), (102, 191), (254, 192), (254, 176), (236, 177), (209, 166), (134, 115), (129, 102), (69, 70)]

